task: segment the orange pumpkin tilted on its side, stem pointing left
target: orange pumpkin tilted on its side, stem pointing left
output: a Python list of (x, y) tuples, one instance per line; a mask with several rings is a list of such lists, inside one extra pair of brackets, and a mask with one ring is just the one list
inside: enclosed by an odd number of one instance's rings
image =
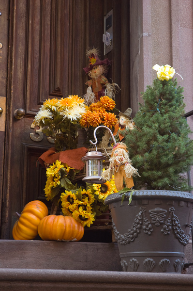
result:
[(15, 240), (34, 239), (38, 234), (38, 225), (40, 221), (47, 214), (47, 206), (39, 200), (34, 200), (26, 204), (13, 227), (13, 238)]

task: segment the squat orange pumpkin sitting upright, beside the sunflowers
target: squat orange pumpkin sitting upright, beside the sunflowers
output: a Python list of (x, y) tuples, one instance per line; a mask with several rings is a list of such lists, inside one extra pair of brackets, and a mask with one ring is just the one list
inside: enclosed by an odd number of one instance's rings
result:
[(48, 215), (39, 226), (38, 234), (44, 241), (79, 241), (84, 235), (84, 226), (71, 216)]

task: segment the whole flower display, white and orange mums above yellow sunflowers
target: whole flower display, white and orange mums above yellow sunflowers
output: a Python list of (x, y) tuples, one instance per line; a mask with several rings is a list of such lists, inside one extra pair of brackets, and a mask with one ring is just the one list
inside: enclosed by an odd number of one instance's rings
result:
[[(100, 124), (112, 129), (118, 122), (115, 106), (115, 101), (108, 96), (101, 97), (100, 101), (91, 103), (88, 107), (83, 98), (70, 95), (67, 98), (45, 100), (36, 114), (34, 125), (42, 127), (45, 135), (55, 140), (55, 148), (46, 152), (48, 157), (53, 155), (52, 162), (46, 162), (40, 157), (47, 166), (44, 191), (46, 199), (52, 202), (52, 214), (56, 214), (60, 207), (64, 216), (72, 216), (83, 226), (89, 227), (96, 216), (106, 210), (105, 198), (117, 192), (114, 178), (104, 184), (86, 183), (84, 187), (80, 187), (81, 183), (75, 184), (78, 181), (75, 176), (81, 168), (75, 168), (73, 164), (66, 162), (64, 155), (60, 156), (67, 150), (73, 150), (74, 153), (78, 150), (77, 129), (85, 128), (87, 138), (93, 137), (94, 129)], [(59, 152), (57, 160), (54, 159), (55, 149)], [(74, 154), (70, 156), (74, 159)]]

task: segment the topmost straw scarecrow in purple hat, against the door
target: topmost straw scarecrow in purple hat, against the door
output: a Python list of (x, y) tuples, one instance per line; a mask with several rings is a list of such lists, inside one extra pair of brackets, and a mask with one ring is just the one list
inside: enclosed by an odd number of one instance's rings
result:
[(109, 59), (100, 60), (98, 53), (99, 50), (95, 48), (86, 51), (89, 65), (84, 68), (84, 71), (88, 74), (89, 81), (86, 82), (88, 89), (84, 99), (87, 105), (98, 102), (102, 96), (114, 99), (116, 89), (119, 89), (116, 83), (109, 83), (105, 77), (111, 62)]

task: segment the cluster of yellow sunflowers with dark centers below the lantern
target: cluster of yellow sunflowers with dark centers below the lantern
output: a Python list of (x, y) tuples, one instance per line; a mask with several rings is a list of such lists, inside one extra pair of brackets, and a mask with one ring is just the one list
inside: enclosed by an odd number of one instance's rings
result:
[[(77, 172), (58, 160), (50, 165), (46, 170), (45, 196), (57, 206), (61, 201), (64, 216), (72, 216), (83, 226), (90, 227), (95, 217), (107, 209), (104, 205), (105, 198), (116, 193), (117, 189), (114, 177), (104, 184), (87, 184), (86, 189), (78, 188), (77, 184), (72, 183)], [(61, 190), (64, 192), (61, 193)]]

